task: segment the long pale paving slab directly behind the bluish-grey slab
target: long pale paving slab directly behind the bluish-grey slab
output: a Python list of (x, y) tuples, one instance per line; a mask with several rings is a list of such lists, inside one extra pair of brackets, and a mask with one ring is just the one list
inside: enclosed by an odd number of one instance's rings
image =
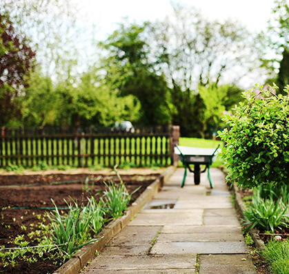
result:
[(239, 233), (161, 233), (157, 242), (239, 242), (243, 241)]

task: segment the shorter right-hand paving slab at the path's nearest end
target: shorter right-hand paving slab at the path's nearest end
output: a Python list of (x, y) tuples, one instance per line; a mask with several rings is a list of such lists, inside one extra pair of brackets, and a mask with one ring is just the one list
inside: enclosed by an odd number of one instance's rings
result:
[(200, 255), (199, 274), (257, 274), (248, 254)]

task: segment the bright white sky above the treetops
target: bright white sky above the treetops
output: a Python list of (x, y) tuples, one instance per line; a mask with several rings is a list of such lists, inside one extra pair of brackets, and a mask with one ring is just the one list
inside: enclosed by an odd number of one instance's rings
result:
[[(249, 30), (266, 30), (274, 0), (177, 0), (195, 6), (208, 19), (237, 18)], [(176, 1), (175, 1), (176, 2)], [(163, 19), (172, 12), (170, 0), (81, 0), (90, 14), (89, 21), (99, 25), (100, 34), (110, 34), (121, 18), (141, 21)]]

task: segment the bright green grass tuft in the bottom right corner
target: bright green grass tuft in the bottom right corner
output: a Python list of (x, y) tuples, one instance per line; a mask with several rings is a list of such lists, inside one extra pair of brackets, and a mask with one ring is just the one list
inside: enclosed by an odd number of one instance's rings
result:
[(265, 246), (265, 250), (262, 255), (268, 262), (272, 271), (276, 274), (289, 273), (289, 242), (281, 241), (269, 241)]

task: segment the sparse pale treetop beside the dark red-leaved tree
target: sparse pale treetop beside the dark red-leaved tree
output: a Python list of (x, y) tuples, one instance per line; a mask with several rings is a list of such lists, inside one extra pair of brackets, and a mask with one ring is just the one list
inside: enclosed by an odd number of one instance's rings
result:
[(30, 39), (29, 45), (37, 49), (37, 63), (43, 75), (53, 81), (62, 81), (77, 75), (77, 67), (86, 67), (83, 59), (90, 41), (83, 22), (85, 16), (77, 1), (73, 0), (2, 0), (0, 12), (8, 12), (17, 33)]

